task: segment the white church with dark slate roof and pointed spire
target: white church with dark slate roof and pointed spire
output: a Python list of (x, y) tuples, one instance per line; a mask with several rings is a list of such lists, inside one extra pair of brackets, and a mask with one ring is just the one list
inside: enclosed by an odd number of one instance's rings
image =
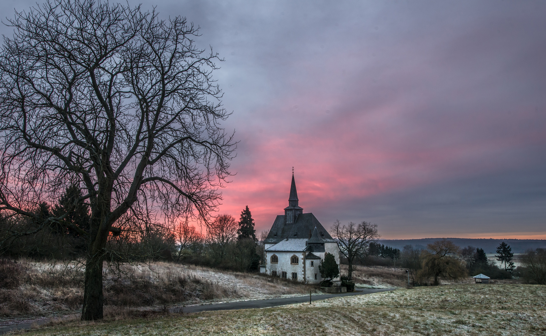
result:
[(284, 215), (277, 215), (264, 240), (265, 263), (260, 266), (260, 273), (318, 284), (323, 280), (318, 266), (325, 253), (333, 254), (339, 264), (340, 249), (316, 217), (304, 214), (298, 203), (292, 174), (288, 207), (284, 208)]

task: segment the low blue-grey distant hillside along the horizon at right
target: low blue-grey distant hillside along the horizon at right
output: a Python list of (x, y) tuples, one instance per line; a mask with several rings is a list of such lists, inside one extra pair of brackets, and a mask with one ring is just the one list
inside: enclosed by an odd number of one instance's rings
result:
[[(396, 247), (402, 250), (406, 245), (413, 245), (413, 247), (426, 248), (426, 244), (434, 243), (436, 240), (442, 240), (443, 238), (422, 238), (422, 239), (380, 239), (380, 244)], [(455, 245), (466, 247), (468, 245), (474, 247), (480, 247), (484, 249), (485, 253), (495, 253), (498, 244), (502, 241), (506, 241), (512, 252), (523, 253), (527, 249), (536, 249), (542, 247), (546, 249), (545, 239), (475, 239), (475, 238), (447, 238), (453, 241)]]

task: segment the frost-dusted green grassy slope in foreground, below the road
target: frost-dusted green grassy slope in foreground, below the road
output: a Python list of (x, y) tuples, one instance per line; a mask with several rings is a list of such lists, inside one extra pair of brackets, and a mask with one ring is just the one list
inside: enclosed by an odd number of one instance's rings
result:
[(545, 335), (546, 286), (454, 285), (334, 298), (312, 305), (72, 323), (54, 335)]

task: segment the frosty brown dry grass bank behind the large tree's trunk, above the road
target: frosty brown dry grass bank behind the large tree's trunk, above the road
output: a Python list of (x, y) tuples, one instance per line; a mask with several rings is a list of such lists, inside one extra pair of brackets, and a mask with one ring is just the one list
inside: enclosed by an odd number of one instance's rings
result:
[[(2, 270), (9, 276), (0, 278), (4, 284), (0, 322), (79, 313), (84, 287), (81, 264), (20, 260), (0, 263)], [(122, 265), (116, 272), (105, 267), (104, 272), (105, 316), (112, 319), (124, 319), (130, 310), (297, 296), (309, 290), (299, 283), (255, 273), (165, 262)]]

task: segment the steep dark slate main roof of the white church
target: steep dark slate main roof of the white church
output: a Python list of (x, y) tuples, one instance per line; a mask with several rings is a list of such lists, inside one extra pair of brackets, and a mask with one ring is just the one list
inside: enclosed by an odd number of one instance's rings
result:
[(318, 234), (325, 243), (335, 243), (335, 240), (312, 213), (299, 214), (294, 223), (287, 223), (286, 225), (284, 225), (284, 215), (278, 215), (264, 243), (278, 243), (283, 239), (286, 240), (286, 238), (305, 238), (307, 240), (310, 238), (309, 233), (313, 232), (314, 227), (317, 227)]

